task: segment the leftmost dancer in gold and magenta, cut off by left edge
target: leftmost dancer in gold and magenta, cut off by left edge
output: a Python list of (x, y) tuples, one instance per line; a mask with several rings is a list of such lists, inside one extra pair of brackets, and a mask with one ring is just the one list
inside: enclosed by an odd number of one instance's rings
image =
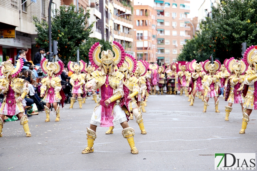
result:
[(0, 108), (0, 137), (2, 137), (2, 128), (5, 116), (12, 118), (16, 115), (21, 120), (26, 137), (31, 137), (28, 118), (25, 114), (22, 100), (29, 93), (29, 89), (24, 85), (24, 80), (18, 78), (23, 67), (23, 59), (19, 58), (16, 63), (16, 68), (12, 65), (12, 59), (2, 62), (0, 76), (0, 93), (4, 94), (2, 106)]

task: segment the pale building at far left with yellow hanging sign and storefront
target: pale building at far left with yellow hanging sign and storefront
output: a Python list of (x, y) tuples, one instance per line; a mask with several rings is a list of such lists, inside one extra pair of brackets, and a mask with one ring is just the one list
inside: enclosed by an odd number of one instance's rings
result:
[[(32, 17), (48, 21), (48, 5), (49, 0), (0, 1), (0, 62), (6, 58), (12, 58), (14, 62), (17, 52), (23, 48), (29, 49), (26, 57), (33, 61), (38, 50), (33, 46), (37, 32)], [(53, 0), (51, 8), (56, 9), (60, 5), (61, 1)], [(54, 12), (51, 15), (54, 16)]]

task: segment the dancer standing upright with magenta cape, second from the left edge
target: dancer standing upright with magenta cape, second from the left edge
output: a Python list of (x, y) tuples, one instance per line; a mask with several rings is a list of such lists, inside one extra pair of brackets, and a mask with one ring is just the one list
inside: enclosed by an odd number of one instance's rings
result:
[(55, 122), (60, 121), (60, 108), (58, 102), (64, 104), (65, 95), (61, 86), (61, 79), (58, 77), (64, 70), (64, 64), (62, 61), (48, 62), (48, 59), (43, 58), (40, 62), (42, 71), (47, 74), (41, 80), (40, 97), (44, 97), (43, 102), (46, 103), (45, 122), (50, 122), (50, 106), (53, 104), (55, 109), (56, 119)]

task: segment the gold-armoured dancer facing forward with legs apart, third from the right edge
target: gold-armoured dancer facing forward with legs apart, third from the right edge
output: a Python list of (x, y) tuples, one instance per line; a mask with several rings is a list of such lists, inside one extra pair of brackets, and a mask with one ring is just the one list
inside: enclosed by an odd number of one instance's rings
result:
[(208, 101), (210, 97), (214, 98), (215, 101), (215, 112), (220, 113), (218, 110), (218, 105), (219, 105), (219, 76), (215, 74), (221, 66), (220, 61), (216, 60), (212, 64), (209, 60), (206, 60), (203, 64), (203, 68), (205, 72), (208, 72), (208, 75), (205, 75), (202, 79), (202, 85), (205, 88), (205, 93), (204, 93), (204, 107), (203, 107), (203, 113), (206, 112)]

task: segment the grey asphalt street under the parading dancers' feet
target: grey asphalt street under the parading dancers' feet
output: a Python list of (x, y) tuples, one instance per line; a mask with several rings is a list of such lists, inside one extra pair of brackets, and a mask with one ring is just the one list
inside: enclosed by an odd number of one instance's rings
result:
[(239, 134), (242, 123), (240, 104), (233, 104), (229, 121), (225, 121), (227, 102), (209, 100), (207, 113), (196, 97), (189, 106), (188, 97), (150, 95), (143, 113), (146, 135), (140, 134), (136, 120), (128, 122), (135, 129), (138, 155), (130, 152), (120, 125), (106, 135), (108, 127), (97, 127), (94, 152), (81, 154), (87, 147), (86, 127), (95, 107), (91, 98), (83, 109), (69, 104), (60, 109), (60, 122), (50, 113), (29, 118), (31, 137), (26, 137), (20, 121), (5, 122), (0, 138), (0, 170), (213, 170), (214, 153), (256, 153), (256, 114), (250, 116), (245, 134)]

